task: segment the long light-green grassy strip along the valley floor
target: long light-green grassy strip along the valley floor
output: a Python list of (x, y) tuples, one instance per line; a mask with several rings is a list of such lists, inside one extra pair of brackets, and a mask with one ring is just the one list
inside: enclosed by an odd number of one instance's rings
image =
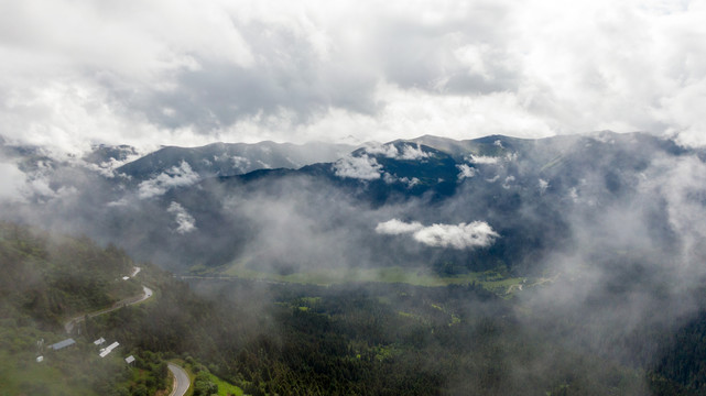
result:
[(402, 283), (414, 286), (448, 286), (478, 284), (500, 296), (510, 296), (519, 290), (520, 277), (502, 277), (493, 271), (473, 272), (455, 276), (438, 276), (426, 268), (405, 268), (401, 266), (380, 268), (317, 270), (292, 274), (274, 274), (246, 268), (245, 263), (236, 263), (226, 268), (219, 276), (232, 276), (265, 282), (296, 283), (328, 286), (343, 283), (379, 282)]

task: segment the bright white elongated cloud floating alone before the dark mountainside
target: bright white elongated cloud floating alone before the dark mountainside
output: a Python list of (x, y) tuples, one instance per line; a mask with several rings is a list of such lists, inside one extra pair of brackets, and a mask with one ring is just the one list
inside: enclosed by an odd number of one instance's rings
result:
[(424, 227), (420, 222), (404, 222), (392, 219), (378, 223), (376, 232), (388, 235), (411, 233), (412, 238), (427, 246), (474, 249), (491, 245), (500, 235), (485, 221), (459, 224), (433, 224)]

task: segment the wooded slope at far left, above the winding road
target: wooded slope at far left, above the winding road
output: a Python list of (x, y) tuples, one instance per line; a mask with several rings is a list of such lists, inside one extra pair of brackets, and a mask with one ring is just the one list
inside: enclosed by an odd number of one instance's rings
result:
[[(140, 293), (135, 282), (117, 282), (133, 271), (128, 255), (87, 238), (65, 238), (0, 223), (0, 307), (45, 330), (62, 319), (109, 306)], [(13, 312), (15, 311), (15, 312)]]

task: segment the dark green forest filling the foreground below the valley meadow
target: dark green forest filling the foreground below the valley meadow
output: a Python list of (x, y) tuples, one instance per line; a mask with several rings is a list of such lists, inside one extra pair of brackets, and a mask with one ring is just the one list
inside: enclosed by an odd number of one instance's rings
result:
[[(591, 331), (582, 318), (474, 284), (187, 284), (146, 263), (123, 282), (135, 265), (87, 238), (0, 224), (0, 395), (153, 395), (169, 387), (167, 360), (192, 367), (194, 395), (217, 392), (210, 374), (250, 395), (706, 394), (706, 315), (606, 340), (654, 358), (596, 350), (580, 342)], [(86, 317), (75, 348), (37, 346), (141, 284), (155, 296)], [(99, 337), (120, 348), (98, 358)], [(133, 365), (122, 360), (130, 354)]]

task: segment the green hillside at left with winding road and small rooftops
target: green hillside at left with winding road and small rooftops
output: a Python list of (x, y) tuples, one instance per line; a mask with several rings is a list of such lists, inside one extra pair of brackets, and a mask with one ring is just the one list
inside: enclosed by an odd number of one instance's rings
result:
[[(0, 394), (146, 395), (145, 382), (151, 394), (166, 387), (159, 356), (135, 353), (129, 366), (127, 350), (100, 358), (83, 324), (72, 334), (64, 328), (72, 317), (141, 294), (140, 283), (123, 279), (134, 265), (113, 245), (0, 223)], [(51, 346), (69, 337), (75, 343)]]

